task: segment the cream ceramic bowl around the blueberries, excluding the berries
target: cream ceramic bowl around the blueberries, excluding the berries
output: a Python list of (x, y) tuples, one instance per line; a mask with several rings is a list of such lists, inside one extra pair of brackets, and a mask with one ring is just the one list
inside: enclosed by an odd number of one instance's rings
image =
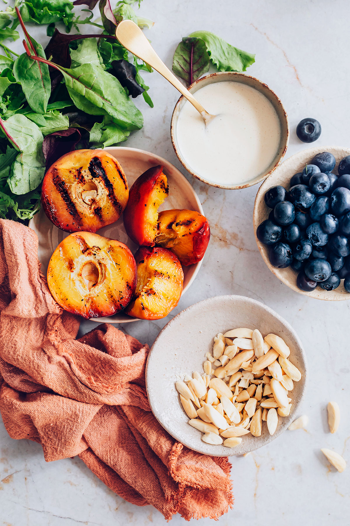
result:
[(309, 148), (307, 150), (302, 150), (298, 154), (292, 155), (289, 159), (283, 161), (283, 163), (275, 169), (273, 174), (270, 175), (260, 186), (257, 197), (254, 203), (253, 211), (253, 226), (255, 239), (257, 241), (258, 248), (262, 259), (265, 261), (266, 265), (269, 267), (271, 272), (278, 277), (285, 285), (289, 288), (299, 292), (299, 294), (304, 294), (304, 296), (310, 296), (311, 298), (323, 299), (329, 301), (341, 301), (345, 299), (350, 299), (350, 294), (344, 289), (344, 281), (341, 281), (341, 285), (335, 290), (323, 290), (321, 287), (317, 287), (311, 292), (305, 292), (300, 290), (296, 285), (296, 276), (298, 273), (295, 272), (292, 268), (275, 268), (271, 265), (269, 260), (269, 250), (268, 247), (263, 245), (257, 238), (257, 228), (262, 221), (268, 219), (271, 208), (266, 206), (264, 201), (264, 195), (269, 188), (272, 186), (284, 186), (287, 190), (290, 188), (290, 179), (291, 177), (302, 171), (306, 163), (311, 163), (312, 158), (320, 153), (321, 151), (329, 151), (334, 155), (336, 160), (335, 167), (338, 167), (338, 164), (347, 155), (350, 155), (350, 148), (341, 148), (338, 146), (318, 146), (317, 148)]

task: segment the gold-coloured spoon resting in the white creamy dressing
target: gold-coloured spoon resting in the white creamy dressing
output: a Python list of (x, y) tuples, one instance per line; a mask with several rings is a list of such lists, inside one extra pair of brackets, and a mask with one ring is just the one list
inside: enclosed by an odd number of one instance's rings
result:
[(203, 117), (207, 125), (216, 115), (210, 115), (198, 100), (189, 93), (185, 86), (172, 74), (141, 31), (140, 27), (132, 20), (123, 20), (116, 26), (115, 36), (122, 46), (128, 49), (136, 57), (152, 66), (158, 73), (163, 75), (178, 91), (190, 102)]

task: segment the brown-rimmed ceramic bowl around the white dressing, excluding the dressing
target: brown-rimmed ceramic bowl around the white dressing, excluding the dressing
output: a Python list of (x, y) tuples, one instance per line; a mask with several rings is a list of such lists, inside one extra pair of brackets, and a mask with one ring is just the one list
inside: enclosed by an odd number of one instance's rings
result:
[(278, 118), (280, 120), (281, 125), (281, 139), (280, 144), (277, 150), (277, 153), (273, 160), (271, 161), (270, 165), (267, 167), (266, 170), (264, 170), (263, 173), (257, 174), (255, 177), (253, 177), (250, 181), (242, 181), (241, 184), (238, 185), (220, 185), (213, 183), (213, 181), (208, 181), (200, 174), (197, 174), (193, 169), (187, 164), (186, 159), (182, 156), (181, 151), (178, 147), (177, 142), (177, 136), (176, 136), (176, 129), (177, 129), (177, 119), (179, 116), (179, 113), (181, 112), (181, 109), (183, 105), (186, 102), (186, 99), (181, 96), (174, 108), (172, 121), (171, 121), (171, 127), (170, 127), (170, 133), (173, 143), (173, 148), (175, 150), (175, 154), (178, 157), (178, 160), (180, 163), (186, 168), (186, 170), (192, 174), (194, 177), (202, 181), (203, 183), (206, 183), (210, 186), (216, 186), (217, 188), (225, 188), (225, 189), (231, 189), (231, 190), (237, 190), (240, 188), (247, 188), (248, 186), (256, 185), (257, 183), (260, 183), (263, 179), (268, 177), (269, 174), (272, 173), (272, 171), (280, 164), (285, 152), (287, 151), (287, 146), (289, 142), (289, 121), (287, 113), (285, 112), (285, 109), (283, 107), (283, 104), (281, 103), (278, 96), (272, 91), (272, 89), (269, 88), (267, 84), (264, 84), (261, 82), (261, 80), (258, 80), (257, 78), (250, 77), (249, 75), (245, 75), (243, 73), (236, 73), (236, 72), (220, 72), (220, 73), (212, 73), (211, 75), (206, 75), (205, 77), (201, 77), (196, 82), (191, 84), (188, 88), (188, 91), (190, 93), (195, 94), (196, 91), (200, 88), (203, 88), (204, 86), (207, 86), (208, 84), (214, 84), (216, 82), (240, 82), (241, 84), (246, 84), (247, 86), (251, 86), (254, 89), (257, 89), (258, 92), (262, 93), (269, 101), (271, 102), (272, 106), (274, 107), (275, 111), (277, 112)]

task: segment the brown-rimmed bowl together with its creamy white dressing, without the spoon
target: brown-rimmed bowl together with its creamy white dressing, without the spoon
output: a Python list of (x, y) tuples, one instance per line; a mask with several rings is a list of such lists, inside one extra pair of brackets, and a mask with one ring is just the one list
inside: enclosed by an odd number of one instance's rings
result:
[(201, 77), (188, 88), (210, 114), (208, 125), (181, 96), (171, 138), (182, 165), (211, 186), (240, 189), (268, 177), (289, 141), (289, 122), (277, 95), (254, 77), (235, 72)]

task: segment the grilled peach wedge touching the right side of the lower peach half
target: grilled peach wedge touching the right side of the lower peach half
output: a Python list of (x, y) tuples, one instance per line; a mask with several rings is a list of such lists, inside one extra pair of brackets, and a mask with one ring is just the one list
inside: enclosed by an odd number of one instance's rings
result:
[(135, 260), (136, 290), (125, 312), (143, 320), (164, 318), (180, 299), (184, 282), (182, 266), (175, 254), (161, 247), (140, 247)]

